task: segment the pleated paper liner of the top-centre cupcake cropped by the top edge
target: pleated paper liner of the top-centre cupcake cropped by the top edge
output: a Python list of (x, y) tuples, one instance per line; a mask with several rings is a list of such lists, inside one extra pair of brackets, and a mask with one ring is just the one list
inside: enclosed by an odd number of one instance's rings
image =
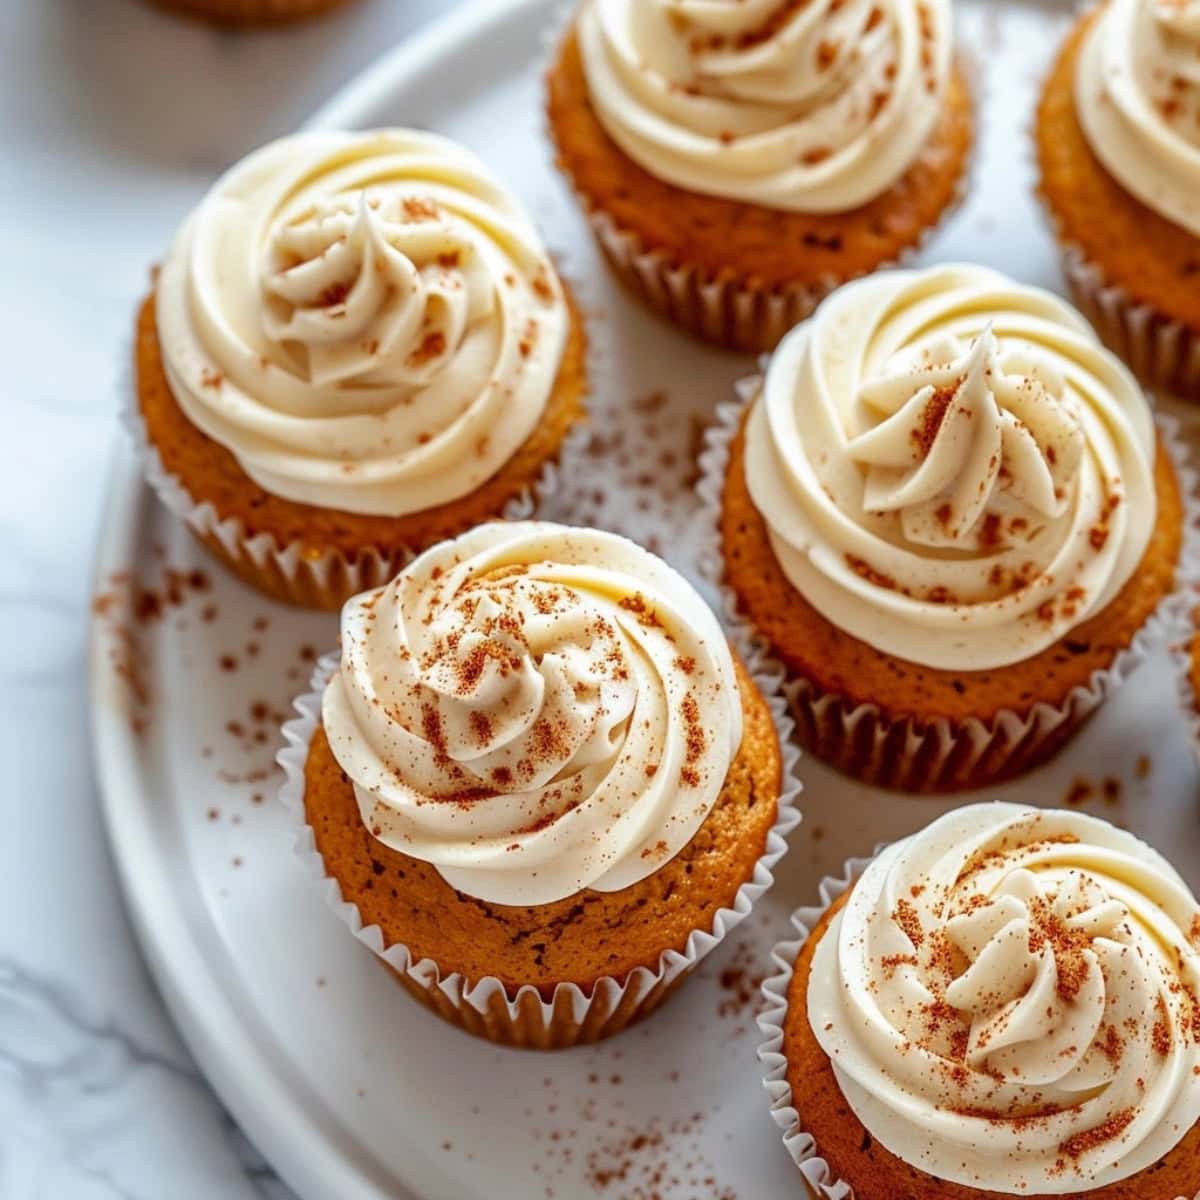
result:
[[(556, 22), (547, 30), (545, 35), (547, 67), (553, 61), (562, 37), (575, 19), (575, 7), (568, 6), (558, 13)], [(958, 61), (970, 88), (971, 80), (979, 78), (979, 74), (972, 70), (971, 58), (965, 52), (959, 53)], [(971, 107), (974, 144), (967, 156), (967, 166), (958, 180), (954, 198), (938, 218), (923, 229), (917, 241), (895, 258), (884, 259), (866, 272), (827, 274), (816, 283), (755, 287), (744, 278), (725, 275), (713, 277), (695, 265), (678, 263), (667, 251), (647, 247), (637, 233), (623, 228), (611, 214), (598, 208), (578, 187), (565, 163), (556, 158), (556, 166), (570, 185), (608, 265), (628, 290), (667, 320), (702, 341), (731, 350), (757, 354), (774, 349), (793, 325), (810, 316), (816, 306), (842, 283), (848, 283), (863, 274), (911, 263), (958, 212), (971, 190), (979, 157), (976, 152), (979, 139), (979, 103), (973, 91)], [(548, 119), (546, 133), (551, 145), (557, 149), (558, 143)]]

